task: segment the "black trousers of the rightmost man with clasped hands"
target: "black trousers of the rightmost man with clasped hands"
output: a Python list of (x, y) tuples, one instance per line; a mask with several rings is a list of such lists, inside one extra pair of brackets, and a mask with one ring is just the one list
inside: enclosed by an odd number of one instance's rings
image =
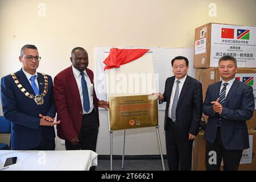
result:
[(207, 141), (205, 163), (208, 171), (220, 171), (223, 158), (225, 171), (237, 171), (243, 150), (228, 150), (221, 141), (221, 130), (217, 129), (217, 136), (213, 143)]

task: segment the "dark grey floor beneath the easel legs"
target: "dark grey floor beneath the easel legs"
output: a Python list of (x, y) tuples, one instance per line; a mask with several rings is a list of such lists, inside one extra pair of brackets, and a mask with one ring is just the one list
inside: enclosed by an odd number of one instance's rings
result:
[[(162, 171), (162, 162), (152, 160), (125, 160), (122, 169), (122, 160), (113, 160), (113, 171)], [(164, 167), (168, 170), (167, 159), (164, 159)], [(110, 171), (110, 160), (98, 160), (96, 171)]]

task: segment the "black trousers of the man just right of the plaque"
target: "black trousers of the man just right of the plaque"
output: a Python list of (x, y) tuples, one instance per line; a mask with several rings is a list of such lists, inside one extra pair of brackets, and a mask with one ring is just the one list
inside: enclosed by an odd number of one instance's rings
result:
[(193, 140), (181, 141), (170, 118), (166, 126), (166, 151), (170, 171), (191, 171)]

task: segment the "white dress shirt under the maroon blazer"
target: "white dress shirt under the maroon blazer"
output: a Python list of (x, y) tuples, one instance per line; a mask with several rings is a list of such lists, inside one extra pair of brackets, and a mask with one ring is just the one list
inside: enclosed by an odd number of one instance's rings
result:
[(82, 112), (83, 114), (88, 114), (90, 112), (92, 112), (94, 105), (93, 105), (93, 84), (92, 82), (90, 82), (90, 78), (87, 75), (86, 71), (84, 70), (84, 78), (86, 81), (86, 85), (87, 85), (87, 89), (88, 89), (88, 95), (89, 95), (89, 101), (90, 101), (90, 110), (88, 111), (88, 113), (84, 110), (84, 97), (82, 96), (82, 83), (81, 83), (81, 72), (79, 70), (77, 70), (75, 67), (73, 67), (72, 65), (72, 70), (73, 70), (73, 74), (75, 76), (76, 79), (76, 83), (79, 89), (79, 94), (80, 94), (80, 98), (81, 98), (81, 104), (82, 104)]

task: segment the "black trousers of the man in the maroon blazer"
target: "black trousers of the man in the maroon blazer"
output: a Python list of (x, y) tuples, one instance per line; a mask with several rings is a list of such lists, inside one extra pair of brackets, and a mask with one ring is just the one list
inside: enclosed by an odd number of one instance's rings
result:
[[(69, 140), (65, 140), (66, 150), (92, 150), (96, 152), (98, 123), (95, 110), (93, 110), (92, 113), (83, 115), (78, 138), (79, 144), (76, 146), (73, 146)], [(95, 167), (91, 167), (90, 170), (95, 170)]]

